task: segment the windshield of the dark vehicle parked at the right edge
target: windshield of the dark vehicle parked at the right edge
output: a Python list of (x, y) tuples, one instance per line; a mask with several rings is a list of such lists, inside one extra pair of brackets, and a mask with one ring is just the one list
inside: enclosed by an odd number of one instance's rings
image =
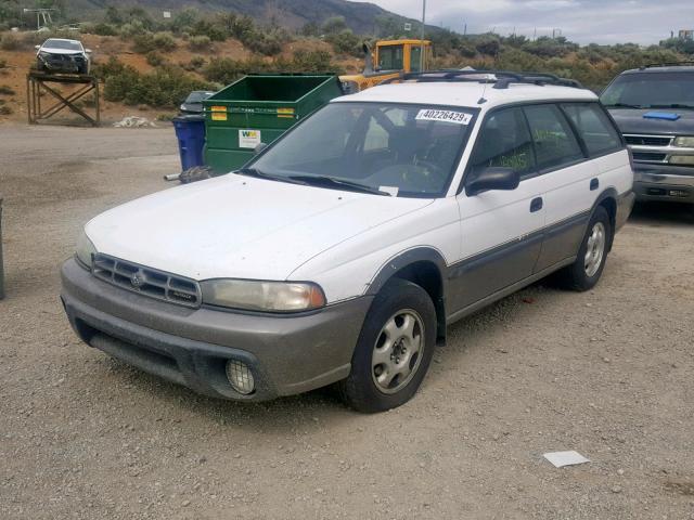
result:
[(619, 76), (600, 96), (605, 106), (694, 108), (694, 73), (635, 73)]

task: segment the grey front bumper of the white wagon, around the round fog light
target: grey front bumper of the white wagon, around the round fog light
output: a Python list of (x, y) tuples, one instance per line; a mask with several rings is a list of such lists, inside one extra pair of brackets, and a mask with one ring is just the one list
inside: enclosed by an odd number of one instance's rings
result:
[[(65, 312), (86, 343), (198, 393), (244, 401), (301, 393), (347, 377), (373, 299), (267, 315), (154, 300), (97, 280), (74, 259), (61, 274)], [(236, 392), (227, 380), (232, 359), (250, 367), (252, 394)]]

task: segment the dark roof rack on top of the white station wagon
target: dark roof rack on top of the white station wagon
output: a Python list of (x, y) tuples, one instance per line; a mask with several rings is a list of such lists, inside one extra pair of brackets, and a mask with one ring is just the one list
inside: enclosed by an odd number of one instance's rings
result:
[(511, 83), (524, 84), (554, 84), (560, 87), (573, 87), (582, 89), (583, 86), (575, 79), (560, 78), (549, 73), (512, 73), (510, 70), (458, 70), (458, 69), (439, 69), (427, 70), (424, 73), (406, 73), (396, 78), (389, 78), (381, 84), (413, 81), (417, 83), (427, 82), (455, 82), (471, 81), (478, 83), (493, 83), (494, 89), (507, 89)]

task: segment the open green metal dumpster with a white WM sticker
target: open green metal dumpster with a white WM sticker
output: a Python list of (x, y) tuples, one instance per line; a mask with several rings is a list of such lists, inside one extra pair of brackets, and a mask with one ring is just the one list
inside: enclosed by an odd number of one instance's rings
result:
[(342, 95), (334, 75), (249, 75), (203, 101), (205, 164), (215, 173), (240, 168), (260, 143)]

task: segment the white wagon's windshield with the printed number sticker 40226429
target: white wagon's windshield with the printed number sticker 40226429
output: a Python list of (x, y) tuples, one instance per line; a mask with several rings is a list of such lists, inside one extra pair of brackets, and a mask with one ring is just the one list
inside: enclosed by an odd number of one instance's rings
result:
[(349, 183), (391, 196), (437, 197), (448, 188), (476, 112), (331, 103), (249, 166), (265, 177), (303, 183), (340, 188)]

